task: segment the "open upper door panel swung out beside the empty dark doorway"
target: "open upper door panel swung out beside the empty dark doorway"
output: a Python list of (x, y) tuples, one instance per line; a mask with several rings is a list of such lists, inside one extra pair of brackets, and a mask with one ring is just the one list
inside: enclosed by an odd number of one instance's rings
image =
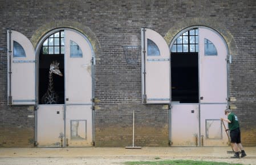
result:
[[(148, 43), (152, 44), (150, 48)], [(141, 28), (142, 95), (145, 104), (169, 104), (170, 102), (170, 52), (160, 34), (149, 28)], [(149, 52), (150, 51), (150, 52)]]

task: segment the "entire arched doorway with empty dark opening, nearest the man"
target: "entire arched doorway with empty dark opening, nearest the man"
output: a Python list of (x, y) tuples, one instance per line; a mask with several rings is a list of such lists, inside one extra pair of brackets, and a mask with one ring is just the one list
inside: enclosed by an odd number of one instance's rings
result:
[(172, 146), (226, 146), (220, 117), (227, 108), (224, 39), (207, 27), (182, 30), (170, 44)]

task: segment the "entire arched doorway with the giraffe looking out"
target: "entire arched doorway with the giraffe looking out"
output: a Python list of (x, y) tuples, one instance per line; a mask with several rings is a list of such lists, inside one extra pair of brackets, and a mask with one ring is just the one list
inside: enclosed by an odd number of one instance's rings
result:
[[(38, 146), (91, 146), (94, 51), (79, 31), (58, 28), (36, 48)], [(58, 96), (58, 99), (56, 99)]]

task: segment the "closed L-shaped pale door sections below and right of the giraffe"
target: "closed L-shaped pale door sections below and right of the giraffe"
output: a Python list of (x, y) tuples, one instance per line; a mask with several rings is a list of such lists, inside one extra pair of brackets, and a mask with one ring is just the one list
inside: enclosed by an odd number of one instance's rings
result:
[(38, 146), (92, 145), (92, 77), (90, 43), (64, 30), (64, 105), (38, 105)]

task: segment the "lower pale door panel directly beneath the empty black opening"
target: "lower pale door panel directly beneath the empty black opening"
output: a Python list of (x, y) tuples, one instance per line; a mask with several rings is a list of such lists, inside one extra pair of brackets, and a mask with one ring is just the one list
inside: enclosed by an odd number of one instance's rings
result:
[(198, 104), (173, 104), (171, 112), (172, 146), (199, 145)]

